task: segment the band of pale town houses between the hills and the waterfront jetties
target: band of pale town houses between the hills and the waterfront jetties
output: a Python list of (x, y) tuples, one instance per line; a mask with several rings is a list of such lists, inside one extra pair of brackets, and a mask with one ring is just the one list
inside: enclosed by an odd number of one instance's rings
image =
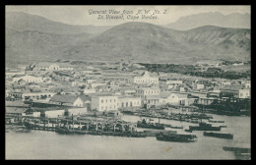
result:
[(56, 117), (67, 111), (62, 108), (65, 106), (82, 113), (165, 104), (189, 106), (200, 99), (220, 96), (250, 98), (248, 80), (180, 79), (167, 73), (149, 73), (140, 66), (133, 71), (120, 70), (118, 66), (35, 63), (26, 67), (24, 72), (6, 71), (6, 101), (61, 106), (56, 110), (61, 110), (61, 113), (53, 113), (54, 108), (45, 108), (46, 116)]

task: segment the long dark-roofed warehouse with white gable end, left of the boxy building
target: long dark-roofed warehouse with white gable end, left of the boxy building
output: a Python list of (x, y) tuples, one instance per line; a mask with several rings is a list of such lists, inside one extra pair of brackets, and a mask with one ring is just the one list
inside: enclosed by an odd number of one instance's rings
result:
[(84, 101), (74, 94), (55, 94), (49, 100), (50, 104), (83, 107)]

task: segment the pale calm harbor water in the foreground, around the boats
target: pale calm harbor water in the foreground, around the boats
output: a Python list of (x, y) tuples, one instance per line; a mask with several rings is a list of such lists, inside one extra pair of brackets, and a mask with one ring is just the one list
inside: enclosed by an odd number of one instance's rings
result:
[[(174, 130), (180, 134), (196, 135), (196, 142), (159, 141), (155, 137), (122, 138), (92, 135), (60, 135), (54, 132), (34, 131), (6, 133), (6, 159), (236, 159), (224, 146), (250, 148), (250, 117), (213, 115), (213, 126), (227, 126), (221, 133), (233, 134), (233, 139), (204, 137), (203, 132), (186, 133), (191, 124), (160, 119), (160, 123), (183, 126)], [(137, 122), (140, 117), (124, 115), (123, 120)], [(154, 123), (159, 119), (154, 119)]]

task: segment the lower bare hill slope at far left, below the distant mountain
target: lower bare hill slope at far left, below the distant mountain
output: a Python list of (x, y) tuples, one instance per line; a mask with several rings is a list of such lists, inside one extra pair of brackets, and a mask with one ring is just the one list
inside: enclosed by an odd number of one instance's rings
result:
[(6, 62), (62, 59), (63, 51), (92, 37), (89, 33), (54, 34), (6, 28)]

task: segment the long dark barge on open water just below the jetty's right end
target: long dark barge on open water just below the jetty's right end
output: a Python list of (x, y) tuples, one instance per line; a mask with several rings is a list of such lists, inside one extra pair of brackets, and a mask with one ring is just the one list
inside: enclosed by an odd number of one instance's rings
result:
[(180, 135), (180, 134), (162, 134), (156, 136), (158, 140), (173, 141), (173, 142), (194, 142), (197, 140), (195, 135)]

